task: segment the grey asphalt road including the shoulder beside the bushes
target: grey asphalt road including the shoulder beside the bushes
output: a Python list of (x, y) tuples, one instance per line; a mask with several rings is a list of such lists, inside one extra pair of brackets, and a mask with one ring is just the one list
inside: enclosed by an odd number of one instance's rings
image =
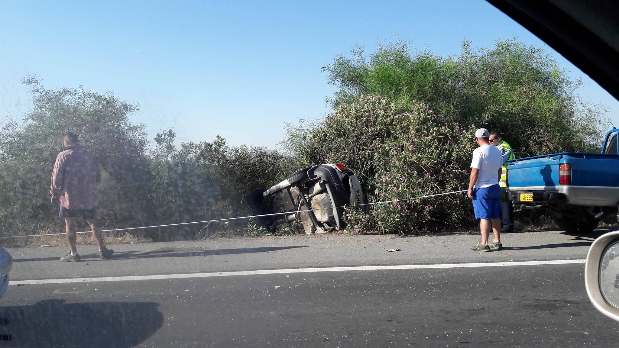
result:
[[(0, 300), (0, 337), (11, 334), (11, 341), (0, 346), (617, 346), (619, 324), (589, 303), (582, 263), (453, 265), (582, 259), (592, 238), (513, 233), (503, 237), (506, 250), (467, 250), (477, 238), (340, 235), (119, 245), (113, 246), (118, 258), (106, 261), (95, 258), (92, 246), (80, 246), (83, 261), (75, 264), (59, 263), (64, 248), (11, 249), (14, 282)], [(296, 269), (397, 264), (454, 268)], [(269, 269), (290, 271), (226, 275)], [(180, 272), (222, 276), (68, 282)], [(49, 279), (59, 284), (46, 284)]]

